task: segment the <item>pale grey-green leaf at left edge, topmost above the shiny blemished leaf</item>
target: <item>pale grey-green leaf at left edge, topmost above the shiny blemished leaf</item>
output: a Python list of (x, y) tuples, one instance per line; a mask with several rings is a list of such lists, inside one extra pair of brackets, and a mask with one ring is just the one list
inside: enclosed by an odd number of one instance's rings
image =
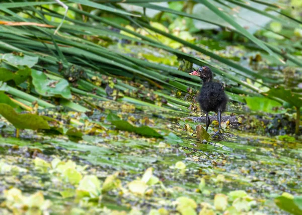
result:
[(16, 54), (4, 54), (0, 59), (6, 60), (12, 65), (15, 66), (28, 66), (29, 68), (33, 67), (38, 63), (38, 57), (32, 57), (29, 55), (16, 55)]

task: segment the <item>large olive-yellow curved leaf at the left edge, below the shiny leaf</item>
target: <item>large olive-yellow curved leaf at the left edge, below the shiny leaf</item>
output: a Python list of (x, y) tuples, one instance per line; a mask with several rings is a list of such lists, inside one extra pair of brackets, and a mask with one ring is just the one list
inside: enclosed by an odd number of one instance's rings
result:
[(50, 129), (43, 117), (35, 114), (17, 114), (12, 106), (0, 103), (0, 114), (17, 129)]

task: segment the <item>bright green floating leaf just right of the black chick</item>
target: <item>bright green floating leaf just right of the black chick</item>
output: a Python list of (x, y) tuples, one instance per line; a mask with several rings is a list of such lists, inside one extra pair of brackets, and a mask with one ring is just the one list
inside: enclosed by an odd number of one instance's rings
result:
[(273, 110), (274, 107), (279, 107), (281, 104), (267, 97), (245, 97), (247, 105), (251, 111), (262, 111), (266, 113), (277, 113)]

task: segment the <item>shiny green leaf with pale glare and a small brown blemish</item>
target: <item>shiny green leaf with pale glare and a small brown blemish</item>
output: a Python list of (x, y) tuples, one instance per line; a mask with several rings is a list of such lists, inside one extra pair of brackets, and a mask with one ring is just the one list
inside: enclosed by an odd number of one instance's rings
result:
[(32, 70), (32, 78), (35, 90), (40, 95), (71, 98), (69, 83), (65, 79), (50, 80), (43, 72), (35, 69)]

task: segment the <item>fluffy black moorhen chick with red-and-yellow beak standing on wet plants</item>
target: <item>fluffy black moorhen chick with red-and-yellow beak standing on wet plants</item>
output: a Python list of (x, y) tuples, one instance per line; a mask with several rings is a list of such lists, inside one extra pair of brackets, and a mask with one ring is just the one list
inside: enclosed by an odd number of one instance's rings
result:
[(202, 87), (198, 95), (198, 102), (200, 109), (206, 114), (206, 131), (210, 125), (210, 118), (208, 112), (213, 111), (217, 113), (219, 123), (218, 131), (213, 137), (220, 134), (221, 129), (221, 113), (225, 111), (228, 97), (224, 93), (224, 88), (221, 83), (213, 82), (212, 71), (209, 67), (199, 67), (196, 71), (191, 72), (189, 75), (196, 75), (203, 81)]

